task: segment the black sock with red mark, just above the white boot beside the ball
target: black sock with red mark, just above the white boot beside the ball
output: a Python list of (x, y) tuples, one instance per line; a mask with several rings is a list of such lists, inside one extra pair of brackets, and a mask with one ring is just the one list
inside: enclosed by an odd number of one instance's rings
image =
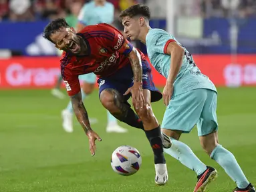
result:
[(154, 164), (164, 164), (164, 149), (162, 148), (162, 133), (160, 126), (152, 129), (150, 131), (146, 131), (146, 137), (148, 137), (148, 141), (153, 149), (154, 153)]

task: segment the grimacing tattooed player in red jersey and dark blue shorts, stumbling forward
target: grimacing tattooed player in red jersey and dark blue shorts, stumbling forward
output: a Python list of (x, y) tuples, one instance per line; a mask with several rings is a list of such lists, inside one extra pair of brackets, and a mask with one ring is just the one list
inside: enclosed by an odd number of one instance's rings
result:
[[(78, 75), (95, 73), (102, 105), (120, 121), (143, 129), (154, 152), (155, 182), (163, 185), (168, 180), (160, 125), (154, 116), (151, 102), (159, 101), (162, 94), (152, 81), (151, 68), (141, 51), (135, 49), (118, 29), (101, 23), (88, 25), (76, 33), (65, 19), (51, 21), (44, 30), (45, 39), (63, 50), (61, 75), (74, 113), (89, 139), (90, 151), (95, 154), (95, 141), (102, 141), (92, 130), (88, 113), (82, 102)], [(132, 95), (132, 104), (127, 102)], [(168, 143), (169, 142), (169, 143)]]

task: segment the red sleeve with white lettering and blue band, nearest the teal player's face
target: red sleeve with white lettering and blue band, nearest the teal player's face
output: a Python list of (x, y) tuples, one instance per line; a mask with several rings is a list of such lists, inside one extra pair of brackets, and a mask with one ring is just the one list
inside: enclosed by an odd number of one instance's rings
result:
[(102, 43), (105, 46), (124, 55), (128, 55), (132, 51), (132, 43), (125, 39), (118, 29), (106, 23), (100, 25), (101, 30), (106, 30), (106, 34), (102, 35)]

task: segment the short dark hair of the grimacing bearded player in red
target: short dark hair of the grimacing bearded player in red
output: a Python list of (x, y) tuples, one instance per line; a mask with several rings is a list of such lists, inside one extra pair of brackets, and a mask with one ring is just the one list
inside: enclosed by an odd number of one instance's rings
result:
[(59, 29), (61, 29), (62, 27), (70, 27), (70, 25), (68, 25), (64, 18), (58, 18), (51, 21), (51, 23), (49, 23), (43, 31), (43, 37), (54, 43), (49, 36), (52, 33), (59, 31)]

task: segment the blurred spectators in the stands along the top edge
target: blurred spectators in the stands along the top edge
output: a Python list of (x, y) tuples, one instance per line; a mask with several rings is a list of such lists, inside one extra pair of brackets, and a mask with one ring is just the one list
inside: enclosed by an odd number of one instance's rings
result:
[[(76, 14), (90, 0), (0, 0), (1, 21), (38, 21)], [(108, 0), (116, 13), (135, 3), (145, 3), (152, 8), (154, 17), (165, 17), (166, 0)], [(170, 0), (171, 1), (171, 0)], [(255, 0), (179, 0), (177, 10), (182, 15), (201, 17), (255, 17)]]

